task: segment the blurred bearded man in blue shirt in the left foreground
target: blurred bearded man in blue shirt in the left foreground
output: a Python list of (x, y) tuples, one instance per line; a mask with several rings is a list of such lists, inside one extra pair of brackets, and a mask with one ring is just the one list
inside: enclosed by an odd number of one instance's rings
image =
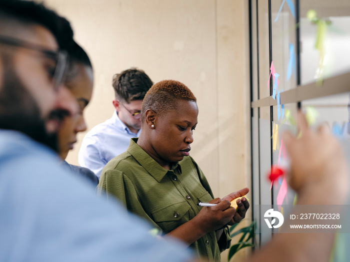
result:
[(47, 147), (78, 114), (62, 22), (41, 4), (0, 0), (0, 261), (187, 261), (181, 244), (97, 198)]

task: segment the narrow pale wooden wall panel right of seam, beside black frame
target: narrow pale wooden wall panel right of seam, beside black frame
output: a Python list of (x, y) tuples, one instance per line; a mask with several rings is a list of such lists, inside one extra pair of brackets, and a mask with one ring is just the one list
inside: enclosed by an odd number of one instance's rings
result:
[[(249, 31), (247, 1), (217, 0), (219, 194), (250, 188)], [(250, 224), (250, 212), (245, 223)], [(237, 242), (239, 237), (232, 240)], [(246, 250), (234, 256), (241, 261)], [(226, 261), (228, 251), (221, 254)]]

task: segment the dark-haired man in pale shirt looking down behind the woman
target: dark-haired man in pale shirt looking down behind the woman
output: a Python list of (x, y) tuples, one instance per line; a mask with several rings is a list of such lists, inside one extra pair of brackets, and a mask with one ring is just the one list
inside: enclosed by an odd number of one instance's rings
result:
[(115, 74), (112, 85), (113, 116), (85, 135), (78, 155), (79, 165), (97, 177), (109, 160), (126, 151), (131, 138), (139, 136), (142, 100), (152, 81), (142, 70), (130, 68)]

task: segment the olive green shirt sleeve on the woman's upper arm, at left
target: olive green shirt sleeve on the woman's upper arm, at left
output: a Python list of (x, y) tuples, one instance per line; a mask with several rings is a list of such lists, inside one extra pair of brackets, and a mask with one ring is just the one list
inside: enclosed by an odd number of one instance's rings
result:
[(97, 186), (97, 194), (107, 199), (116, 198), (129, 212), (147, 221), (152, 228), (161, 231), (142, 208), (131, 180), (121, 171), (114, 169), (103, 171)]

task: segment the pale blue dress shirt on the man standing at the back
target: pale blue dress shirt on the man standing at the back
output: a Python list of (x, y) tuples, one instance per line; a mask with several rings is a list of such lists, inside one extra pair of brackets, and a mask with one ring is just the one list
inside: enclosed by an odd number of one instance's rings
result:
[(85, 135), (78, 154), (79, 166), (88, 168), (99, 178), (109, 160), (125, 152), (130, 139), (138, 137), (140, 131), (132, 133), (114, 111), (110, 119)]

